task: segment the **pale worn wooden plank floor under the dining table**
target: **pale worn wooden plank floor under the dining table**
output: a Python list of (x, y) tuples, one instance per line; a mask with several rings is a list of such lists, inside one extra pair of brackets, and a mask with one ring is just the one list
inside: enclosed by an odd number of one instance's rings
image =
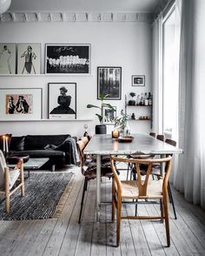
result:
[[(82, 189), (83, 176), (76, 168), (76, 181), (60, 218), (0, 221), (0, 255), (205, 255), (205, 212), (188, 204), (175, 190), (178, 219), (174, 219), (169, 207), (169, 248), (162, 223), (149, 220), (122, 220), (121, 245), (116, 248), (110, 204), (102, 205), (101, 221), (96, 222), (96, 180), (89, 182), (82, 224), (78, 225)], [(110, 180), (102, 179), (102, 201), (110, 201), (110, 189)], [(123, 207), (123, 212), (134, 210), (134, 205)], [(139, 205), (138, 211), (152, 215), (159, 209), (158, 205)]]

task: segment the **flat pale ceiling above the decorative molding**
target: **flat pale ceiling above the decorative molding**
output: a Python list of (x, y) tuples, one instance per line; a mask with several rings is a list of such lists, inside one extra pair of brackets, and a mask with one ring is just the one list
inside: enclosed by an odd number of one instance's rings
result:
[(10, 10), (130, 11), (152, 13), (159, 3), (162, 3), (162, 0), (11, 0)]

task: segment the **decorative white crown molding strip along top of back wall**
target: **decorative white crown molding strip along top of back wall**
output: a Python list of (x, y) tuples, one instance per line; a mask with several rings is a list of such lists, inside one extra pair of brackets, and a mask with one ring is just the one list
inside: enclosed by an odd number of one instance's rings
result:
[(6, 12), (0, 22), (145, 22), (152, 23), (151, 13), (130, 12)]

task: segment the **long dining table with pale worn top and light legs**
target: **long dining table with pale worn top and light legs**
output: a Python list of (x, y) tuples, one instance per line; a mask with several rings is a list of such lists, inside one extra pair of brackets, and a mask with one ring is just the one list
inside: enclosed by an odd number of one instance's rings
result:
[[(84, 149), (84, 154), (96, 155), (96, 218), (101, 208), (101, 157), (103, 155), (154, 154), (164, 158), (167, 154), (182, 153), (182, 149), (169, 145), (146, 133), (132, 134), (132, 142), (119, 142), (110, 134), (96, 134)], [(163, 168), (162, 168), (163, 172)], [(163, 174), (163, 173), (162, 173)]]

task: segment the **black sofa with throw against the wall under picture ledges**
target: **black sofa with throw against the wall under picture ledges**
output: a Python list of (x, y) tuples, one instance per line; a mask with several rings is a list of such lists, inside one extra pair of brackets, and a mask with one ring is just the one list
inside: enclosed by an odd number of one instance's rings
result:
[(76, 164), (75, 148), (70, 138), (69, 134), (12, 136), (10, 154), (25, 153), (30, 158), (50, 158), (46, 167), (52, 166), (54, 171), (56, 166)]

